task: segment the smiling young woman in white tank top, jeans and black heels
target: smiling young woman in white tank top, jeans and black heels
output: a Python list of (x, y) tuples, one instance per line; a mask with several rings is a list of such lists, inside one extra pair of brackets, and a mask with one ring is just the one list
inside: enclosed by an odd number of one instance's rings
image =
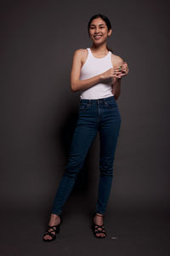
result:
[(77, 49), (71, 68), (71, 91), (80, 91), (79, 113), (69, 160), (54, 198), (48, 229), (43, 241), (53, 241), (62, 222), (61, 212), (81, 171), (90, 145), (99, 131), (99, 194), (93, 215), (94, 236), (105, 238), (103, 222), (111, 191), (113, 162), (121, 116), (116, 104), (121, 93), (121, 79), (127, 75), (127, 62), (107, 47), (111, 22), (105, 15), (94, 15), (88, 22), (91, 48)]

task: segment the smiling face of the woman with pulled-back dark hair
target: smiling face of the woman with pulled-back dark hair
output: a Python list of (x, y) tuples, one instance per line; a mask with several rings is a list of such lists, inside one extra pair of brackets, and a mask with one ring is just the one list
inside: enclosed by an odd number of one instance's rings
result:
[(111, 29), (108, 32), (108, 28), (105, 24), (105, 20), (96, 18), (92, 20), (89, 26), (89, 37), (94, 44), (101, 44), (106, 41), (107, 37), (111, 35)]

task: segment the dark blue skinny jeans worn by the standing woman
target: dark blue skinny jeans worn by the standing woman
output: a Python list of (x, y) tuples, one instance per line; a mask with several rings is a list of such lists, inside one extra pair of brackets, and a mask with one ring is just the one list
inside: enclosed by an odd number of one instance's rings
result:
[(97, 100), (80, 99), (77, 126), (74, 131), (68, 163), (59, 183), (51, 213), (60, 215), (73, 189), (88, 149), (99, 131), (99, 191), (95, 212), (104, 214), (111, 192), (116, 143), (121, 115), (114, 96)]

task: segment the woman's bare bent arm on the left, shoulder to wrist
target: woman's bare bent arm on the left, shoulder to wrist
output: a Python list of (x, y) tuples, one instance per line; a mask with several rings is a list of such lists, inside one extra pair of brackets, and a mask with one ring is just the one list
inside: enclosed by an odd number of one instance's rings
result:
[(82, 49), (77, 49), (73, 56), (71, 67), (71, 91), (85, 90), (98, 84), (102, 79), (102, 74), (96, 75), (90, 79), (80, 80), (82, 67)]

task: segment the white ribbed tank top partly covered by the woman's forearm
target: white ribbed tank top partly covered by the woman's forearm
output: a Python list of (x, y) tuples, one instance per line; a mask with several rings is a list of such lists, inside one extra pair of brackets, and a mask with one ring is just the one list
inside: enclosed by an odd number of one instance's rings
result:
[[(90, 79), (99, 73), (104, 73), (106, 70), (113, 68), (111, 62), (111, 51), (103, 58), (95, 58), (90, 48), (88, 49), (88, 58), (83, 64), (80, 80)], [(81, 99), (100, 99), (113, 96), (111, 92), (111, 79), (102, 80), (102, 83), (95, 84), (87, 90), (81, 90)]]

